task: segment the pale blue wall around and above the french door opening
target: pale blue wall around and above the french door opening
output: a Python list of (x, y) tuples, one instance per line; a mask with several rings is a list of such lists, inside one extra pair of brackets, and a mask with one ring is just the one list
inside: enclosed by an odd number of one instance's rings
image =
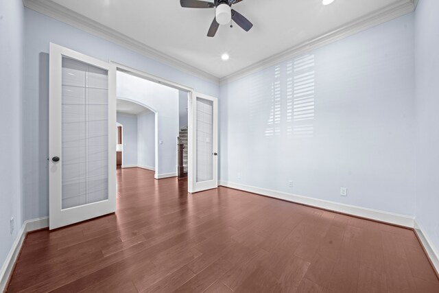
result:
[[(6, 3), (7, 1), (3, 0), (3, 2)], [(21, 3), (21, 1), (19, 2)], [(19, 23), (19, 20), (20, 17), (14, 16), (14, 22)], [(12, 36), (16, 38), (19, 34), (14, 32), (14, 34), (11, 34)], [(3, 40), (6, 39), (8, 38), (3, 38)], [(25, 220), (48, 215), (49, 42), (80, 51), (100, 60), (113, 60), (179, 84), (185, 84), (202, 93), (213, 96), (218, 96), (219, 93), (219, 86), (213, 82), (174, 69), (169, 65), (152, 60), (107, 40), (78, 30), (66, 23), (25, 8), (25, 94), (23, 105), (25, 117), (23, 121)], [(9, 42), (2, 42), (2, 44), (8, 46)], [(18, 49), (18, 47), (15, 49)], [(18, 51), (15, 50), (14, 52)], [(7, 58), (11, 60), (10, 56)]]

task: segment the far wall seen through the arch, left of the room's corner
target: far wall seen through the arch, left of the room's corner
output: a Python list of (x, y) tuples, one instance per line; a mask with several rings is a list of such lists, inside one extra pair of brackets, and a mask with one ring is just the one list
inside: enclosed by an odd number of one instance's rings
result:
[(117, 112), (122, 124), (122, 166), (137, 166), (137, 115)]

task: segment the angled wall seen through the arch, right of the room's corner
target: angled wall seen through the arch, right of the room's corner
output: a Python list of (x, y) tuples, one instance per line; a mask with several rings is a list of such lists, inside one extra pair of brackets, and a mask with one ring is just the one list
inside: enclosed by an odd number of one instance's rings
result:
[(137, 165), (155, 168), (155, 114), (150, 110), (137, 115)]

